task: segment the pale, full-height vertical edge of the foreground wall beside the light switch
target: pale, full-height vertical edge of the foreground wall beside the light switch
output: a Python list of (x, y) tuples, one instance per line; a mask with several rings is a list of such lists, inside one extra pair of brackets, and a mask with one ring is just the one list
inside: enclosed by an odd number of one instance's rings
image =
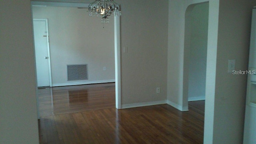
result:
[(208, 46), (204, 110), (204, 144), (213, 143), (219, 0), (209, 1)]

